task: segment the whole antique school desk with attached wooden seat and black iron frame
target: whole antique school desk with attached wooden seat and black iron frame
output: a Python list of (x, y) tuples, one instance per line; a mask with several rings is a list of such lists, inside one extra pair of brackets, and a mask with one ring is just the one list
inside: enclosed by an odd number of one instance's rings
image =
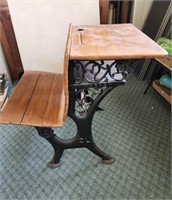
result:
[[(112, 89), (125, 84), (135, 60), (166, 55), (132, 24), (70, 26), (64, 74), (25, 72), (0, 114), (0, 123), (35, 127), (54, 148), (48, 163), (51, 168), (60, 165), (65, 149), (84, 147), (111, 164), (114, 159), (92, 137), (92, 119), (99, 103)], [(75, 122), (77, 133), (64, 140), (52, 128), (62, 127), (67, 116)]]

